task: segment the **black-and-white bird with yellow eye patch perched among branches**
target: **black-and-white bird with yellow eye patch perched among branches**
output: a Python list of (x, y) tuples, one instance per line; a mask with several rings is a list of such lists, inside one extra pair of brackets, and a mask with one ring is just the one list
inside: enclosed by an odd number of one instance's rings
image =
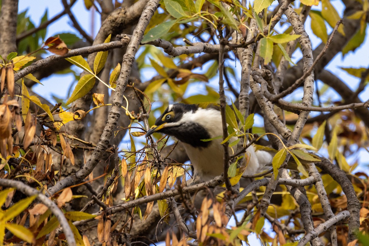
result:
[[(154, 132), (173, 136), (183, 143), (193, 166), (193, 183), (208, 181), (223, 173), (223, 139), (216, 138), (223, 136), (218, 104), (170, 104), (145, 136), (148, 137)], [(213, 140), (204, 141), (205, 139)], [(234, 140), (237, 140), (237, 137), (231, 138), (231, 142)], [(254, 145), (246, 149), (246, 155), (246, 176), (261, 173), (273, 160), (271, 153), (264, 150), (255, 151)]]

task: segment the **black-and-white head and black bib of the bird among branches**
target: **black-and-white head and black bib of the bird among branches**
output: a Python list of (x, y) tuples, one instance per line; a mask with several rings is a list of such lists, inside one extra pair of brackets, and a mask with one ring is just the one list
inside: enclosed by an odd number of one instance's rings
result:
[(206, 147), (209, 142), (202, 139), (213, 138), (217, 132), (215, 128), (219, 127), (221, 129), (220, 111), (214, 106), (176, 103), (169, 105), (156, 119), (155, 125), (146, 132), (146, 137), (160, 132), (174, 136), (193, 147)]

